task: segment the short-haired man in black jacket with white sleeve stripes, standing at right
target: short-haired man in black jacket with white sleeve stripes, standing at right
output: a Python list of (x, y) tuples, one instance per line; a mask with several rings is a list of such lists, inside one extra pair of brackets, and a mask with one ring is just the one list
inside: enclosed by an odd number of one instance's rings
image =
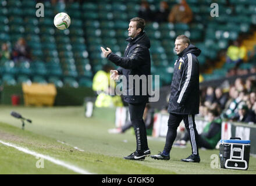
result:
[(165, 148), (154, 159), (169, 160), (170, 149), (177, 135), (177, 127), (183, 120), (189, 133), (192, 154), (182, 159), (184, 162), (200, 162), (198, 153), (198, 133), (194, 116), (199, 113), (199, 64), (197, 56), (201, 51), (190, 44), (186, 35), (179, 35), (175, 40), (175, 51), (178, 59), (175, 62), (170, 99), (168, 106), (169, 120)]

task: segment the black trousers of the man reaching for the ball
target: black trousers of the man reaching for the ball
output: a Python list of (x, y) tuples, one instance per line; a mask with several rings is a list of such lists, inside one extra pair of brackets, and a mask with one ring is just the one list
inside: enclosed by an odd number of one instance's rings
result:
[(129, 103), (129, 113), (131, 124), (136, 135), (136, 151), (143, 153), (148, 149), (147, 131), (143, 120), (146, 103)]

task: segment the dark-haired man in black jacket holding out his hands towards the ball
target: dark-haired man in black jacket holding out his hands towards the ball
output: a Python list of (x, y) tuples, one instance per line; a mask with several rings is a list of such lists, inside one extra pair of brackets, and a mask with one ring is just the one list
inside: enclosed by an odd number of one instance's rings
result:
[[(104, 56), (117, 66), (120, 66), (117, 70), (112, 70), (111, 78), (117, 80), (119, 75), (123, 75), (123, 78), (126, 78), (126, 85), (123, 85), (123, 89), (125, 89), (123, 100), (129, 105), (130, 120), (134, 127), (137, 144), (136, 151), (124, 157), (130, 160), (143, 160), (145, 156), (150, 155), (143, 113), (146, 103), (149, 102), (147, 80), (148, 75), (151, 74), (151, 60), (149, 51), (150, 40), (143, 31), (144, 27), (144, 19), (134, 17), (130, 20), (128, 28), (129, 38), (126, 40), (129, 44), (123, 57), (112, 53), (110, 48), (106, 48), (108, 49), (106, 51), (101, 47)], [(131, 77), (141, 78), (139, 80), (140, 83), (134, 83), (133, 79), (130, 79)], [(144, 83), (141, 83), (141, 81), (144, 81)], [(144, 87), (145, 85), (146, 88)], [(138, 91), (139, 94), (136, 94)]]

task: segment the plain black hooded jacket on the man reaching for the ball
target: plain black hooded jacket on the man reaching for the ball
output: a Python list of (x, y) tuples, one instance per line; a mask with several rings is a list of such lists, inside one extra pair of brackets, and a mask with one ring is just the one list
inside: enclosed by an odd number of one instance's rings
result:
[[(126, 39), (129, 44), (126, 47), (123, 57), (119, 57), (114, 53), (109, 53), (108, 60), (120, 66), (118, 74), (124, 75), (127, 80), (126, 95), (123, 95), (123, 100), (127, 103), (147, 103), (149, 98), (148, 93), (148, 75), (151, 74), (151, 59), (150, 59), (150, 39), (143, 31), (137, 37)], [(133, 87), (129, 89), (129, 76), (145, 77), (146, 81), (140, 81), (140, 85), (136, 87), (136, 83), (131, 83)], [(138, 89), (140, 92), (138, 92)], [(139, 93), (137, 95), (136, 91)]]

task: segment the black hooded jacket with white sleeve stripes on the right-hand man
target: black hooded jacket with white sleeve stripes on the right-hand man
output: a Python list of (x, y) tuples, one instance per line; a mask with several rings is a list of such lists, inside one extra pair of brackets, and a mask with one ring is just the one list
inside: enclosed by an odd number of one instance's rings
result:
[(175, 62), (168, 113), (196, 115), (199, 113), (199, 64), (201, 50), (190, 44)]

